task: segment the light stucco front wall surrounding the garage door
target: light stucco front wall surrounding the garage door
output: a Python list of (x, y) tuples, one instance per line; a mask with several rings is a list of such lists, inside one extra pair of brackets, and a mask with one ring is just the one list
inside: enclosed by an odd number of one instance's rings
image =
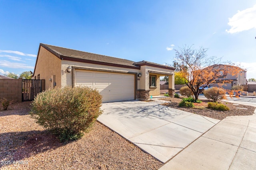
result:
[[(140, 73), (140, 70), (138, 69), (131, 69), (131, 68), (121, 68), (121, 67), (114, 67), (114, 66), (104, 66), (99, 64), (89, 64), (89, 63), (80, 63), (76, 61), (66, 61), (63, 60), (61, 64), (61, 85), (62, 86), (72, 86), (72, 72), (67, 72), (67, 67), (83, 67), (86, 69), (100, 69), (100, 70), (106, 70), (106, 71), (116, 71), (116, 72), (136, 72)], [(136, 81), (136, 80), (135, 80)], [(140, 87), (140, 80), (137, 80), (137, 88)]]

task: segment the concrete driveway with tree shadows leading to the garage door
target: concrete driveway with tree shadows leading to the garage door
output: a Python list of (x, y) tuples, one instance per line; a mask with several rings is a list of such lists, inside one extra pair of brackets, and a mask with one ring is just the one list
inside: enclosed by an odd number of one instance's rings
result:
[(219, 122), (159, 102), (104, 103), (98, 121), (161, 162), (167, 162)]

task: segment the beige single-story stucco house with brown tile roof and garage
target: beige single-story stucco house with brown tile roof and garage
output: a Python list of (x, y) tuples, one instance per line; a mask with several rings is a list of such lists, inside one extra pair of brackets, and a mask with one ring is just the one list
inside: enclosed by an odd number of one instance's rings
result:
[(169, 76), (174, 95), (174, 67), (148, 61), (98, 55), (40, 43), (32, 79), (45, 79), (45, 88), (90, 86), (103, 102), (148, 100), (160, 94), (160, 76)]

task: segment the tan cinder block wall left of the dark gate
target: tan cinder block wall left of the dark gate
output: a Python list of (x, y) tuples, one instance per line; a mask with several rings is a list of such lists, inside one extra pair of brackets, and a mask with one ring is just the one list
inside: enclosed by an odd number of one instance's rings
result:
[(0, 79), (0, 99), (22, 102), (22, 78)]

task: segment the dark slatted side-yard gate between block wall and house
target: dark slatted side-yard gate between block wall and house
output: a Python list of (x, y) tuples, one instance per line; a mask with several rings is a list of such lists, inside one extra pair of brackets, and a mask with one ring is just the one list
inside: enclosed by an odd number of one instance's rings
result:
[(40, 92), (42, 92), (42, 80), (22, 80), (22, 102), (34, 100)]

